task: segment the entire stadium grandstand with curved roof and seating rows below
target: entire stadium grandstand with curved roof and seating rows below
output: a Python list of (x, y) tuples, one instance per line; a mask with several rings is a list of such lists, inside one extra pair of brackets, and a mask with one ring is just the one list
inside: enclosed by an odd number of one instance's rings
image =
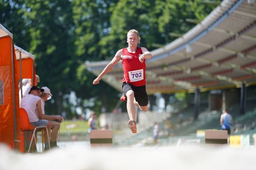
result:
[[(164, 129), (166, 120), (178, 125), (178, 114), (184, 115), (183, 123), (173, 128), (171, 136), (162, 135), (162, 144), (181, 139), (200, 142), (200, 130), (220, 129), (223, 107), (229, 108), (234, 118), (232, 133), (249, 134), (252, 142), (256, 133), (255, 0), (223, 0), (186, 34), (151, 53), (153, 57), (146, 61), (148, 94), (193, 94), (187, 108), (159, 122), (160, 129)], [(109, 62), (85, 65), (98, 76)], [(122, 77), (120, 62), (103, 81), (121, 91)], [(200, 101), (202, 93), (207, 94), (204, 103)], [(121, 143), (132, 144), (150, 136), (152, 127)]]

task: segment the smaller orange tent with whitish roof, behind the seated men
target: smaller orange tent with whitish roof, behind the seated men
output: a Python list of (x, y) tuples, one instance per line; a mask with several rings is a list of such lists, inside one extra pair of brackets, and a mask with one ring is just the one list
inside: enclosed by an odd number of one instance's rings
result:
[[(35, 79), (35, 57), (29, 52), (23, 50), (22, 48), (14, 45), (16, 53), (17, 71), (18, 79), (20, 83), (20, 90), (22, 91), (22, 79), (31, 79), (31, 86), (36, 85)], [(22, 96), (21, 96), (22, 97)]]

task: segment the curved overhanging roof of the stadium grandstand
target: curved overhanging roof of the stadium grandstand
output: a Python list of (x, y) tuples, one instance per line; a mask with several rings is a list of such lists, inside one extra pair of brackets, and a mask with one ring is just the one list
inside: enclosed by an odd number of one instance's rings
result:
[[(256, 84), (256, 3), (223, 0), (182, 37), (151, 51), (146, 61), (147, 92), (172, 93)], [(86, 62), (98, 76), (110, 61)], [(121, 91), (122, 64), (103, 80)]]

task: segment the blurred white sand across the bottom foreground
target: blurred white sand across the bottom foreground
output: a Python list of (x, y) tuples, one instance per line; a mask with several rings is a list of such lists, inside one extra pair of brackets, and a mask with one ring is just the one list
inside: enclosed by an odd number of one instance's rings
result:
[(256, 149), (68, 147), (20, 154), (0, 145), (0, 170), (255, 170)]

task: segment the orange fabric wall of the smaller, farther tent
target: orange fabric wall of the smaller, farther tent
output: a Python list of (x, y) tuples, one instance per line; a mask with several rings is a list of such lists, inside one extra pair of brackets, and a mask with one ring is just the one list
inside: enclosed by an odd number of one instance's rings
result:
[[(16, 60), (17, 62), (17, 72), (18, 72), (18, 79), (20, 79), (20, 60)], [(33, 71), (34, 70), (34, 71)], [(32, 58), (21, 59), (21, 76), (22, 79), (34, 79), (34, 84), (36, 85), (35, 79), (35, 61)]]

